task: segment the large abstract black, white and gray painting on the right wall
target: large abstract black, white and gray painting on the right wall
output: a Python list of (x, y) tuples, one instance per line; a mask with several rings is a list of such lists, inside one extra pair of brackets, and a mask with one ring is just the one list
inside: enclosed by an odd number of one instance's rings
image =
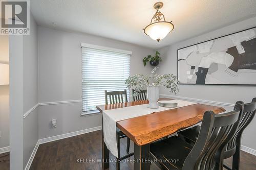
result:
[(256, 85), (256, 28), (178, 50), (179, 84)]

